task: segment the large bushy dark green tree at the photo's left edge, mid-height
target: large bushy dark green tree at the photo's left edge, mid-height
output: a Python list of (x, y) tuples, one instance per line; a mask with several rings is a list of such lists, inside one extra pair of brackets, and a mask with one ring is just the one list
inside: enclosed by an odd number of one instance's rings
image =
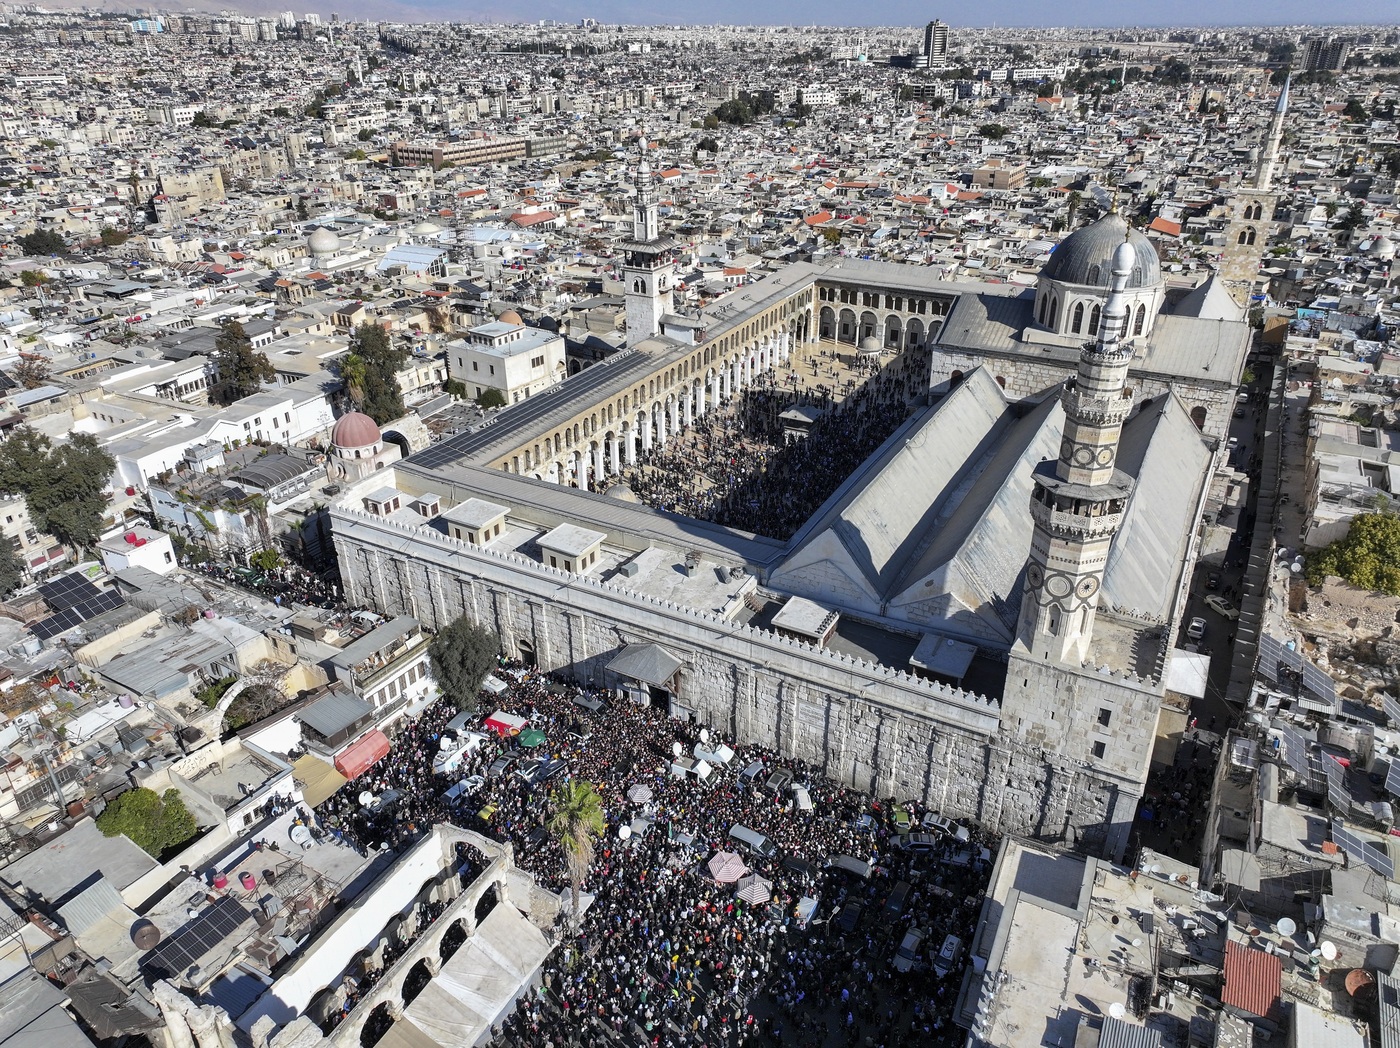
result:
[(0, 444), (0, 487), (24, 494), (38, 530), (80, 550), (91, 550), (102, 534), (105, 488), (115, 467), (91, 434), (74, 434), (55, 448), (21, 425)]

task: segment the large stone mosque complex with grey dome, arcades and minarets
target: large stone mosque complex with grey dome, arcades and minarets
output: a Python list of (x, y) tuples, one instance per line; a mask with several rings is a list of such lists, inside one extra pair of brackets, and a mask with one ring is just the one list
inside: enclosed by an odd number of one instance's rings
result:
[[(1168, 730), (1240, 306), (1215, 277), (1169, 288), (1110, 213), (1035, 288), (840, 259), (679, 316), (651, 186), (643, 164), (627, 348), (347, 487), (349, 599), (428, 628), (465, 613), (512, 656), (874, 796), (1120, 858)], [(813, 343), (920, 378), (795, 533), (626, 497), (619, 474)]]

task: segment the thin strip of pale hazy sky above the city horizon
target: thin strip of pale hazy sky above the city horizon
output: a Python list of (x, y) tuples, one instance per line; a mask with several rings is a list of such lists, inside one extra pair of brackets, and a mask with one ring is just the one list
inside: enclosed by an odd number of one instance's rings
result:
[[(444, 21), (533, 21), (554, 18), (633, 25), (664, 24), (762, 24), (762, 25), (921, 25), (942, 18), (949, 25), (1299, 25), (1375, 24), (1400, 8), (1393, 0), (1155, 0), (1155, 3), (1107, 3), (1107, 0), (1061, 0), (1032, 4), (1025, 0), (983, 0), (976, 4), (928, 6), (910, 0), (881, 3), (834, 3), (833, 0), (400, 0), (386, 6), (416, 8), (421, 17)], [(374, 0), (347, 0), (342, 10), (372, 17)], [(385, 11), (388, 14), (388, 11)]]

